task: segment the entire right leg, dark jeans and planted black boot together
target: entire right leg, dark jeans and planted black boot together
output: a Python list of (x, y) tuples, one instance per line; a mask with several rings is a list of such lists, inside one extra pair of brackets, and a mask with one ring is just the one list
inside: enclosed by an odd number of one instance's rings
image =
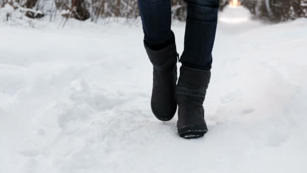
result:
[(182, 66), (177, 84), (178, 134), (183, 138), (201, 137), (208, 128), (203, 101), (211, 77), (219, 0), (185, 0), (187, 21)]

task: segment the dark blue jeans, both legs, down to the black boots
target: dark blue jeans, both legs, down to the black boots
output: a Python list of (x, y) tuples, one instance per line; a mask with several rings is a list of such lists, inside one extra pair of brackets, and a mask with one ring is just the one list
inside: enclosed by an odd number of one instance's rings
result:
[[(180, 62), (184, 66), (210, 70), (215, 40), (219, 0), (184, 0), (187, 19), (184, 51)], [(144, 44), (161, 50), (175, 42), (171, 30), (171, 0), (138, 0)]]

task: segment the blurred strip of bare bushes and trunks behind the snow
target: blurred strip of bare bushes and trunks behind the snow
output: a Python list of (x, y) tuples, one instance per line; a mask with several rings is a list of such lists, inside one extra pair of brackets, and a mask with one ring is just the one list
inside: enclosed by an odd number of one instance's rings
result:
[[(171, 2), (173, 18), (184, 21), (184, 1)], [(29, 18), (49, 17), (50, 20), (59, 15), (77, 20), (89, 19), (93, 22), (108, 17), (135, 19), (139, 16), (137, 0), (0, 0), (0, 7), (6, 5)], [(226, 6), (243, 6), (255, 18), (272, 22), (307, 17), (307, 0), (221, 0), (220, 11)], [(4, 20), (10, 19), (11, 12), (7, 13)]]

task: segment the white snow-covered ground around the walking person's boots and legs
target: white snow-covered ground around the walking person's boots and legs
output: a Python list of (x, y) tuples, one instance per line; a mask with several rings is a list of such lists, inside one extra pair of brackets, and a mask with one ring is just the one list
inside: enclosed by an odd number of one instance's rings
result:
[(306, 19), (220, 14), (194, 140), (150, 111), (140, 22), (58, 26), (0, 23), (0, 172), (307, 172)]

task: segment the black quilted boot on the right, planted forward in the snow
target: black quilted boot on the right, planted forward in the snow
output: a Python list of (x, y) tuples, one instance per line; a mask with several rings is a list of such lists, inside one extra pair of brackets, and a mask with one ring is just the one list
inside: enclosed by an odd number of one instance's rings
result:
[(181, 66), (177, 84), (178, 134), (183, 138), (202, 137), (208, 128), (204, 121), (203, 101), (210, 82), (210, 70)]

